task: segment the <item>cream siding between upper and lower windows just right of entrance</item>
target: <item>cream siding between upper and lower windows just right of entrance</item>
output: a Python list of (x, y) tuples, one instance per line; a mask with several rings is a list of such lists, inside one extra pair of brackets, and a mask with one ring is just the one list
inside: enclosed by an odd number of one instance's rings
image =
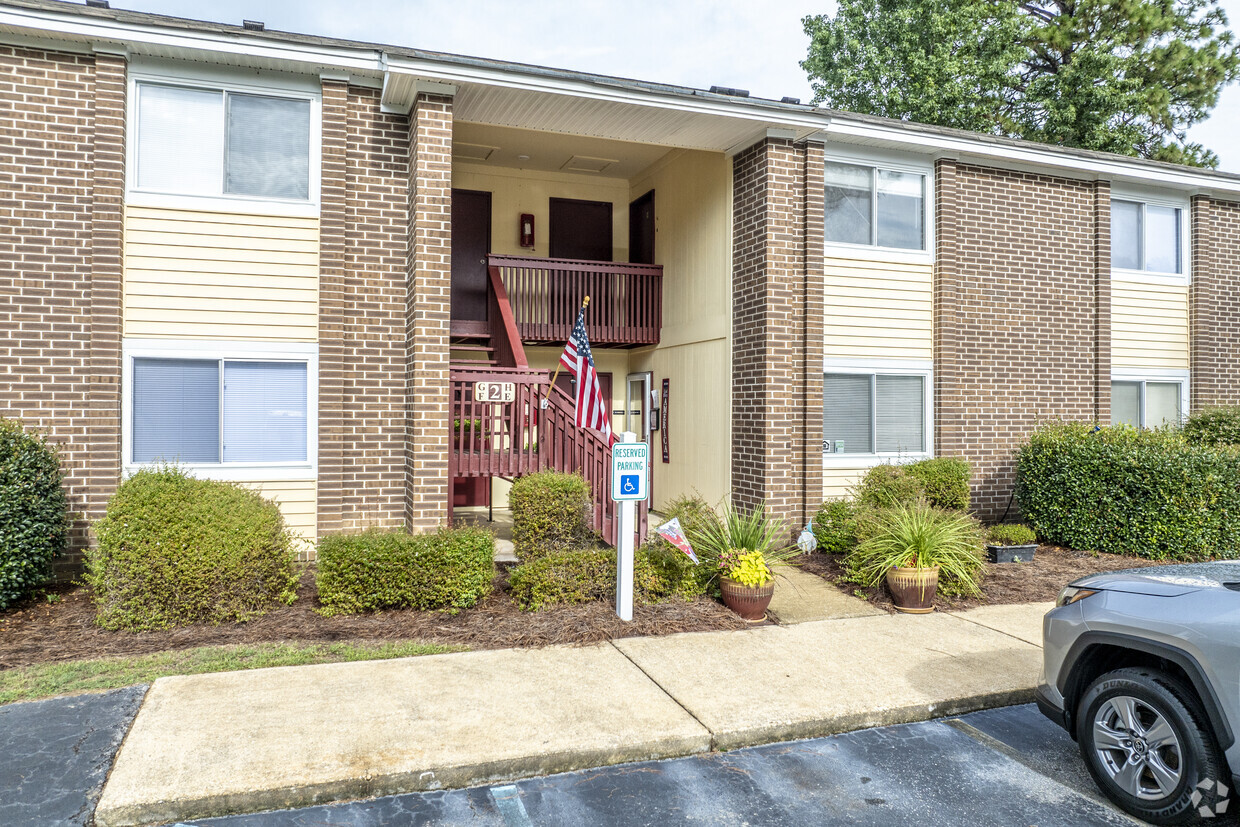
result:
[(931, 272), (930, 263), (828, 257), (825, 356), (932, 358)]

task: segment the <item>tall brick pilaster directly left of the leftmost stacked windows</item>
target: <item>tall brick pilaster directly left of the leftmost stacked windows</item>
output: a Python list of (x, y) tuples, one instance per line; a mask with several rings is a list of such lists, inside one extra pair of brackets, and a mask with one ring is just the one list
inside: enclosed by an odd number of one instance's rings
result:
[[(103, 515), (120, 479), (122, 267), (125, 202), (125, 77), (119, 55), (94, 61), (91, 165), (91, 345), (87, 366), (86, 513)], [(76, 532), (78, 533), (78, 532)]]

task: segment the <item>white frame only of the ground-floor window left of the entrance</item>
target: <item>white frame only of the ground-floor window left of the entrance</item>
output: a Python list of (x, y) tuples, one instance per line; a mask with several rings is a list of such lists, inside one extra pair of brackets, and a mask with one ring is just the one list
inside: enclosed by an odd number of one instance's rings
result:
[[(228, 362), (299, 362), (306, 366), (306, 460), (304, 462), (184, 462), (207, 480), (270, 482), (319, 477), (319, 346), (309, 342), (234, 342), (172, 338), (126, 338), (122, 346), (120, 450), (124, 475), (159, 467), (134, 462), (134, 360), (201, 360)], [(223, 399), (221, 399), (223, 404)]]

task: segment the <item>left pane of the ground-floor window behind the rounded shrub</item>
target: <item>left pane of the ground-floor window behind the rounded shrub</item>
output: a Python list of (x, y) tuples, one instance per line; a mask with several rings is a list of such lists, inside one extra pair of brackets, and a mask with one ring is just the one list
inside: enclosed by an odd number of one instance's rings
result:
[(219, 461), (219, 363), (134, 360), (135, 462)]

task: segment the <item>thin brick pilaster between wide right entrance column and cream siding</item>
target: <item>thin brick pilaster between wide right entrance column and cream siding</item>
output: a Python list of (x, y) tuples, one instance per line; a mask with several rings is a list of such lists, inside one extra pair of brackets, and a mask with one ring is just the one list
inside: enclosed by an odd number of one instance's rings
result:
[(823, 146), (805, 145), (805, 424), (804, 526), (822, 502), (822, 357), (826, 337), (826, 273), (823, 244), (826, 192)]

